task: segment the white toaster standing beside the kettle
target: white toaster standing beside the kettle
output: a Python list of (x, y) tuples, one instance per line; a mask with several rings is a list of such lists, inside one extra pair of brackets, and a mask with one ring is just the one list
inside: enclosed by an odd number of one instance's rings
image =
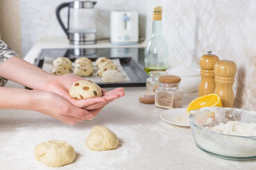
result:
[(111, 11), (110, 41), (116, 45), (138, 43), (139, 24), (136, 11)]

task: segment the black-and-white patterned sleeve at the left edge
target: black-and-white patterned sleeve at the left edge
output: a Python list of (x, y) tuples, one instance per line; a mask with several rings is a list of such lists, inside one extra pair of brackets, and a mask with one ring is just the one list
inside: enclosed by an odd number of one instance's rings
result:
[[(9, 46), (0, 40), (0, 64), (11, 57), (18, 56)], [(0, 77), (0, 85), (4, 84), (7, 79)]]

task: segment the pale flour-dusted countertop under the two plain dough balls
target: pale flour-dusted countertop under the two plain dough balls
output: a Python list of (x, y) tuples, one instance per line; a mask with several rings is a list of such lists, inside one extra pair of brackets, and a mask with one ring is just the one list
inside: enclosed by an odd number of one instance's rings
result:
[[(36, 53), (30, 51), (29, 55)], [(25, 60), (30, 60), (29, 55)], [(5, 86), (24, 88), (11, 81)], [(221, 159), (197, 148), (189, 127), (163, 121), (159, 114), (166, 109), (138, 101), (145, 90), (146, 87), (125, 87), (124, 97), (108, 104), (93, 120), (76, 125), (64, 124), (34, 111), (0, 110), (0, 169), (56, 169), (44, 166), (34, 156), (37, 144), (52, 139), (65, 140), (76, 150), (74, 163), (57, 168), (59, 170), (254, 169), (255, 159)], [(186, 108), (197, 96), (197, 92), (184, 93), (182, 107)], [(241, 107), (237, 101), (234, 106)], [(94, 126), (114, 131), (120, 141), (118, 148), (101, 152), (88, 150), (85, 139)]]

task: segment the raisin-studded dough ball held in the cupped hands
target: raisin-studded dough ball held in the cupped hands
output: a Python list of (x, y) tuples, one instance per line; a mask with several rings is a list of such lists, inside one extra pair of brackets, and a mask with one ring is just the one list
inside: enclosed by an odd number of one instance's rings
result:
[(70, 87), (70, 96), (74, 99), (87, 99), (92, 97), (101, 97), (101, 87), (90, 80), (79, 80)]

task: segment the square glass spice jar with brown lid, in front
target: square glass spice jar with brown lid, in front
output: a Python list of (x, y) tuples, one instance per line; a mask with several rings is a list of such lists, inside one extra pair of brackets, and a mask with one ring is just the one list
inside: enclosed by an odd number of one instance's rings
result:
[(155, 106), (158, 108), (180, 108), (183, 101), (183, 89), (179, 87), (181, 78), (164, 75), (158, 78), (160, 86), (155, 91)]

